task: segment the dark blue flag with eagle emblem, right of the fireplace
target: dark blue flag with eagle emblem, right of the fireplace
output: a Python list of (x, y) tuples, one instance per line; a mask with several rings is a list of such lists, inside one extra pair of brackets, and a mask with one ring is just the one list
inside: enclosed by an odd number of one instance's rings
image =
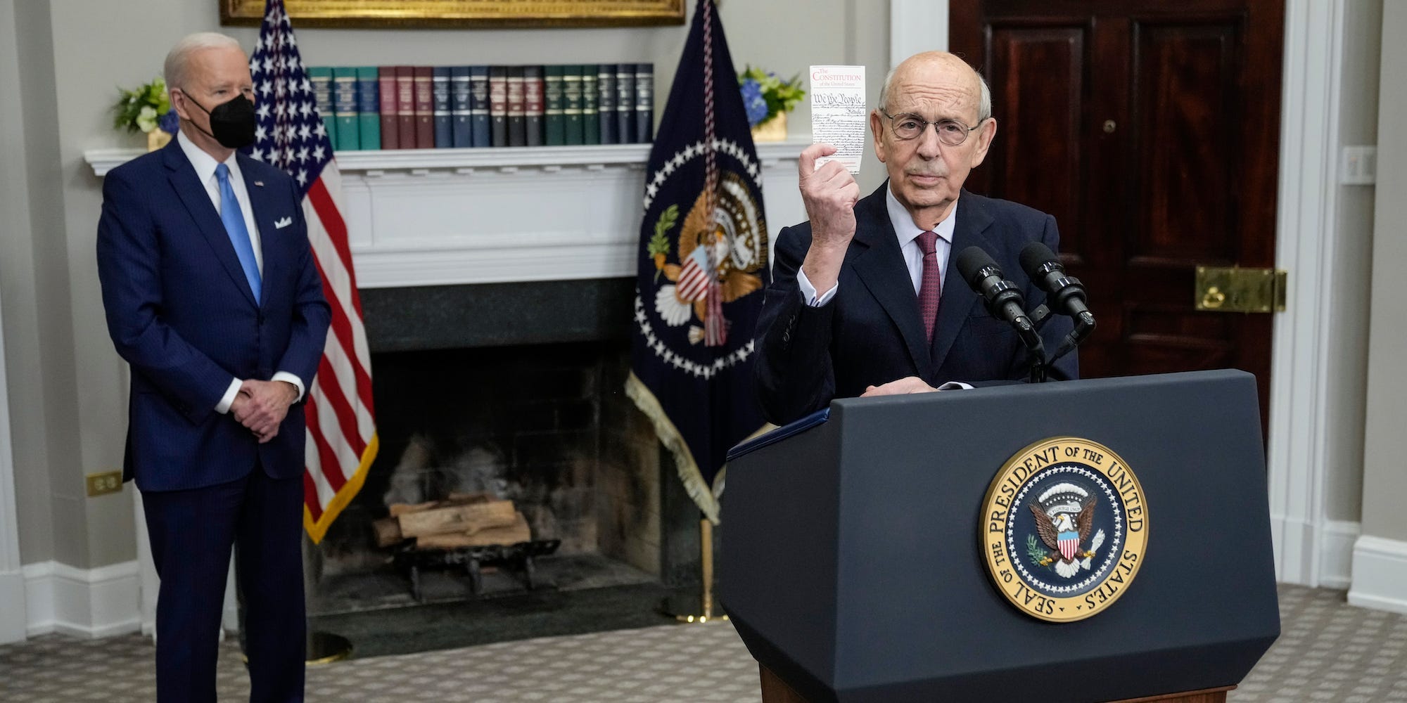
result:
[(753, 392), (767, 224), (761, 167), (713, 0), (699, 0), (646, 169), (626, 392), (718, 522), (727, 449), (764, 426)]

